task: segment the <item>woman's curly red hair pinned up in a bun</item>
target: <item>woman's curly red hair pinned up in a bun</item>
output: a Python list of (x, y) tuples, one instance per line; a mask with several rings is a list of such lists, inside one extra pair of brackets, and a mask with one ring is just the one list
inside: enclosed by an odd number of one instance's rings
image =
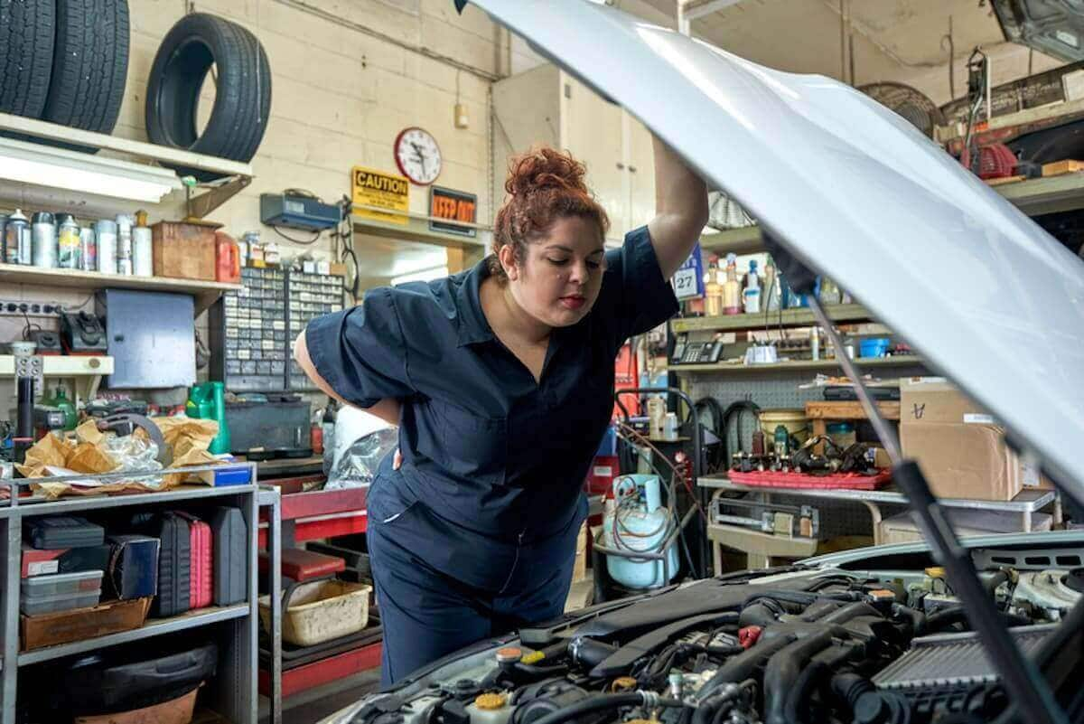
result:
[(554, 222), (565, 217), (580, 217), (594, 222), (599, 240), (609, 230), (609, 217), (588, 190), (583, 177), (588, 169), (567, 153), (538, 146), (513, 156), (504, 190), (508, 196), (493, 223), (493, 256), (490, 273), (507, 279), (498, 254), (511, 246), (516, 261), (524, 262), (527, 245), (545, 235)]

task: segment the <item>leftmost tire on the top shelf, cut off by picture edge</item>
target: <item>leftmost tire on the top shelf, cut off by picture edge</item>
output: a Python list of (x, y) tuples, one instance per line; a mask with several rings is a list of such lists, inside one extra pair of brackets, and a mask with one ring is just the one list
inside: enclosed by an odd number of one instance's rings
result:
[(41, 117), (53, 69), (55, 16), (56, 0), (0, 0), (0, 113)]

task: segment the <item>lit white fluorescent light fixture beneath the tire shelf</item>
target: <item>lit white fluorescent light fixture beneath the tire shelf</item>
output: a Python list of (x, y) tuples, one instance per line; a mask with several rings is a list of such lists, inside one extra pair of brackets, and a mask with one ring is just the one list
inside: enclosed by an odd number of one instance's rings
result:
[(0, 179), (149, 204), (181, 188), (168, 169), (11, 139), (0, 139)]

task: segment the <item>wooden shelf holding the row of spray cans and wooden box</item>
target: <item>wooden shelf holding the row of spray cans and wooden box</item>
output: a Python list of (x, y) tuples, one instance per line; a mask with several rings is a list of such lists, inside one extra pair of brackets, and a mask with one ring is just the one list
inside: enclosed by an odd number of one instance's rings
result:
[(66, 287), (75, 289), (141, 289), (144, 292), (172, 292), (191, 294), (195, 297), (195, 311), (199, 314), (215, 303), (223, 292), (235, 292), (241, 284), (205, 282), (195, 279), (169, 279), (166, 276), (125, 276), (85, 272), (76, 269), (39, 269), (22, 264), (0, 264), (0, 282), (9, 284), (34, 284), (37, 286)]

